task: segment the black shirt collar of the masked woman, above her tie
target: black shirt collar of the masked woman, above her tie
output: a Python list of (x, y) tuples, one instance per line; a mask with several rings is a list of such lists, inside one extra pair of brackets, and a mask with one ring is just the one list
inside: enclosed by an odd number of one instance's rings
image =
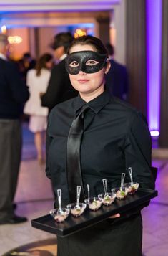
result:
[(89, 108), (91, 108), (94, 113), (99, 113), (99, 111), (104, 108), (105, 105), (107, 105), (107, 103), (109, 103), (109, 100), (111, 99), (111, 96), (109, 95), (109, 93), (107, 92), (107, 90), (105, 90), (102, 94), (100, 94), (99, 96), (97, 96), (97, 98), (94, 98), (93, 100), (89, 101), (88, 103), (86, 103), (86, 101), (84, 101), (80, 95), (78, 95), (78, 97), (76, 98), (76, 101), (74, 103), (74, 110), (75, 113), (79, 112), (79, 109), (81, 109), (81, 107), (85, 104), (87, 104), (89, 106)]

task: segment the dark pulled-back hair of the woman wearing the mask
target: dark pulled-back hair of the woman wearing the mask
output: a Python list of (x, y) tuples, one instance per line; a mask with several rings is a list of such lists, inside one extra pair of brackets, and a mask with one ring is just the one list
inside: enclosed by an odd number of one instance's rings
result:
[(74, 41), (69, 46), (68, 54), (70, 52), (71, 47), (74, 47), (77, 44), (81, 44), (81, 45), (89, 44), (92, 47), (94, 47), (94, 49), (97, 52), (101, 54), (107, 54), (107, 57), (108, 57), (107, 49), (104, 47), (104, 44), (102, 43), (102, 41), (97, 37), (87, 35), (87, 36), (82, 36), (74, 39)]

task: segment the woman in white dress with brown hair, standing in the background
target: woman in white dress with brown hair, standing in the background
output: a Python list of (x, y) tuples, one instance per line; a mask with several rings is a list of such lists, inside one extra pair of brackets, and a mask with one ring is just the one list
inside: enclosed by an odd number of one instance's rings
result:
[(26, 84), (29, 86), (30, 97), (24, 107), (24, 113), (30, 115), (29, 130), (34, 133), (34, 143), (39, 163), (44, 163), (44, 131), (46, 131), (48, 115), (48, 108), (41, 106), (40, 94), (46, 92), (53, 63), (53, 56), (51, 54), (45, 53), (41, 55), (36, 62), (36, 68), (29, 70), (26, 77)]

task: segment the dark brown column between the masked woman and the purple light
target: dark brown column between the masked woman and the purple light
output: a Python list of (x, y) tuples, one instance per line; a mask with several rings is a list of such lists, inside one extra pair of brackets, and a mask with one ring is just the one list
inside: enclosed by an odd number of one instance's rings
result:
[(126, 2), (126, 65), (129, 103), (147, 115), (145, 0)]

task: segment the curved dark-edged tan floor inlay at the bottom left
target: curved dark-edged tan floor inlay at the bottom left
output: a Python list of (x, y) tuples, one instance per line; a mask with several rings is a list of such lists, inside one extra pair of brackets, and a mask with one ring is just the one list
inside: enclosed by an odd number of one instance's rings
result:
[(56, 256), (56, 239), (48, 239), (39, 242), (33, 242), (28, 245), (22, 245), (2, 256)]

